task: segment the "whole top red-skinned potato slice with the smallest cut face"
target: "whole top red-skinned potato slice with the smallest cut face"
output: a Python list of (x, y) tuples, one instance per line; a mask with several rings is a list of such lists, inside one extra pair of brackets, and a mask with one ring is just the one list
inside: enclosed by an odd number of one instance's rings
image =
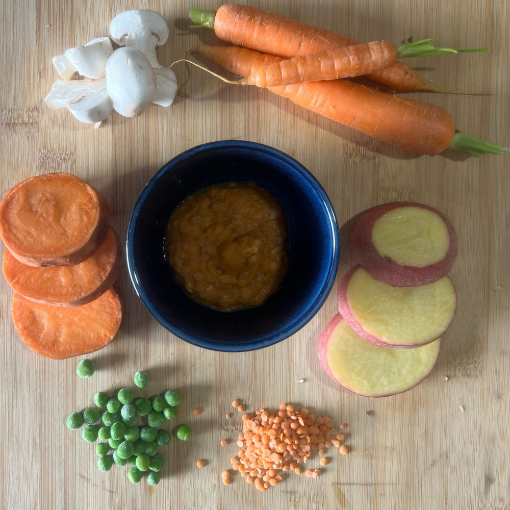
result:
[(373, 278), (397, 287), (442, 278), (457, 254), (451, 221), (437, 209), (415, 202), (390, 202), (366, 211), (351, 237), (356, 260)]

